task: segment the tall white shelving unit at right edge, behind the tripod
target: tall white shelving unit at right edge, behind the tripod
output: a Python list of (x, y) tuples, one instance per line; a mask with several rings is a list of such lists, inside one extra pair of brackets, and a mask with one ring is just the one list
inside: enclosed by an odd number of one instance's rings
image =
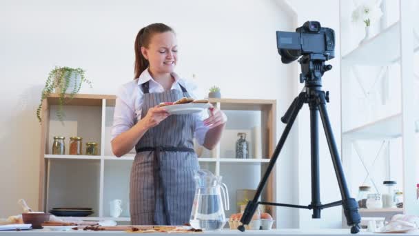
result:
[[(365, 176), (365, 179), (367, 179), (371, 175), (379, 173), (382, 179), (378, 180), (383, 181), (389, 180), (386, 178), (393, 178), (394, 175), (398, 175), (398, 179), (401, 179), (398, 187), (404, 193), (405, 208), (360, 209), (362, 216), (391, 217), (391, 215), (397, 213), (414, 214), (419, 209), (415, 192), (416, 183), (418, 182), (416, 169), (419, 167), (418, 161), (416, 161), (418, 151), (416, 150), (415, 153), (415, 146), (419, 144), (419, 135), (415, 135), (415, 133), (419, 132), (419, 127), (415, 127), (414, 125), (414, 121), (418, 121), (419, 117), (417, 117), (418, 112), (415, 112), (415, 109), (418, 108), (414, 106), (415, 101), (413, 101), (414, 83), (412, 67), (413, 54), (419, 51), (419, 38), (417, 32), (413, 29), (414, 23), (412, 20), (414, 13), (410, 3), (411, 1), (409, 0), (400, 0), (397, 1), (397, 4), (396, 1), (383, 0), (382, 10), (384, 14), (381, 21), (382, 30), (365, 43), (349, 49), (347, 48), (348, 46), (354, 46), (356, 43), (354, 42), (355, 37), (352, 37), (354, 32), (351, 32), (351, 29), (347, 28), (349, 26), (348, 22), (350, 21), (349, 13), (353, 10), (351, 8), (354, 6), (349, 1), (340, 1), (340, 51), (347, 52), (341, 57), (340, 68), (342, 81), (341, 117), (343, 127), (345, 128), (342, 135), (342, 158), (345, 171), (349, 174), (349, 186), (352, 195), (356, 197), (356, 189), (358, 186), (364, 184), (362, 179)], [(392, 5), (386, 7), (386, 4)], [(390, 14), (398, 14), (400, 17), (394, 23), (387, 25), (387, 19)], [(380, 22), (376, 22), (375, 24), (377, 23)], [(413, 32), (413, 34), (410, 32)], [(354, 67), (364, 70), (365, 73), (351, 73)], [(368, 70), (376, 70), (379, 67), (399, 70), (396, 76), (391, 74), (391, 77), (389, 76), (389, 70), (387, 70), (387, 75), (385, 76), (390, 81), (399, 83), (399, 91), (394, 87), (390, 87), (389, 91), (393, 92), (394, 95), (400, 96), (397, 97), (400, 99), (400, 104), (397, 104), (398, 106), (396, 108), (389, 108), (388, 104), (378, 104), (383, 109), (380, 116), (364, 123), (355, 122), (354, 120), (356, 119), (365, 121), (365, 114), (356, 114), (358, 112), (354, 112), (353, 108), (360, 106), (359, 102), (357, 104), (356, 101), (356, 84), (359, 84), (362, 79), (368, 79), (362, 77), (362, 75), (369, 75)], [(354, 79), (353, 76), (358, 76), (358, 78)], [(380, 89), (380, 92), (385, 92), (386, 88), (381, 86)], [(416, 104), (418, 104), (418, 101), (416, 101)], [(382, 114), (386, 115), (382, 116)], [(356, 125), (350, 126), (347, 124)], [(380, 153), (374, 153), (374, 145), (376, 145), (374, 142), (376, 141), (387, 141), (388, 146), (383, 155), (384, 160), (380, 159)], [(362, 148), (360, 148), (360, 142), (364, 144)], [(360, 149), (364, 152), (363, 157), (360, 156), (362, 155)], [(356, 166), (357, 155), (360, 159), (365, 158), (361, 162), (365, 170), (369, 168), (366, 173), (362, 171), (362, 167)], [(381, 166), (374, 166), (377, 159), (382, 161), (380, 163)], [(395, 165), (395, 161), (398, 165)], [(358, 163), (360, 162), (358, 161)], [(371, 166), (365, 166), (365, 163), (372, 164)], [(397, 168), (397, 170), (394, 168)], [(376, 184), (382, 185), (382, 182), (377, 182)]]

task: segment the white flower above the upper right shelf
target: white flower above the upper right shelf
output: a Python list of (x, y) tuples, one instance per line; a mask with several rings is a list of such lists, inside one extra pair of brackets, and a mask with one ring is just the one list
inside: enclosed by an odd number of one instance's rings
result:
[(352, 12), (352, 22), (364, 22), (367, 26), (382, 16), (381, 1), (365, 1)]

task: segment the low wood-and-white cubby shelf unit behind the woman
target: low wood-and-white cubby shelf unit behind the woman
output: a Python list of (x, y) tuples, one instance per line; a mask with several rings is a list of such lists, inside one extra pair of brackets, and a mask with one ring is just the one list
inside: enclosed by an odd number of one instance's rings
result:
[[(83, 220), (130, 222), (130, 168), (135, 153), (119, 158), (112, 154), (110, 130), (115, 99), (113, 95), (76, 95), (71, 100), (66, 98), (63, 122), (55, 115), (59, 97), (52, 95), (43, 101), (39, 210), (48, 212), (54, 207), (91, 207), (94, 214), (82, 217)], [(223, 182), (229, 187), (231, 210), (226, 212), (228, 217), (236, 213), (236, 191), (255, 190), (267, 168), (276, 141), (276, 101), (210, 99), (210, 102), (224, 110), (229, 121), (220, 144), (214, 150), (196, 146), (197, 150), (201, 150), (198, 161), (201, 168), (223, 176)], [(250, 130), (252, 126), (259, 128)], [(246, 132), (251, 144), (256, 139), (260, 141), (253, 146), (254, 152), (251, 150), (250, 159), (234, 158), (237, 132)], [(72, 136), (83, 137), (83, 147), (88, 141), (96, 141), (99, 144), (99, 155), (68, 155), (68, 148), (65, 155), (52, 155), (50, 152), (54, 136), (65, 137), (66, 147)], [(272, 183), (272, 179), (269, 179), (262, 195), (263, 201), (276, 201)], [(112, 199), (121, 199), (123, 202), (120, 217), (110, 217), (108, 203)]]

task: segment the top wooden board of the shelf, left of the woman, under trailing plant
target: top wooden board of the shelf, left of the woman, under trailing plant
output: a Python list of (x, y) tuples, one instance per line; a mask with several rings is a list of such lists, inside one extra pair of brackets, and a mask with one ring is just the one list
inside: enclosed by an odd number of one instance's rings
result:
[[(70, 95), (65, 95), (64, 104), (67, 106), (102, 106), (102, 99), (115, 99), (114, 95), (74, 95), (73, 99), (70, 99)], [(49, 105), (59, 104), (59, 95), (53, 94), (48, 98)]]

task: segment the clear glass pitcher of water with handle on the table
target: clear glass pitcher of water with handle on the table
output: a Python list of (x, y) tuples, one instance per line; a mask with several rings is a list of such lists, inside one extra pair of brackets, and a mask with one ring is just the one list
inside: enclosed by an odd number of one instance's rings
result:
[(225, 225), (225, 210), (229, 210), (227, 186), (221, 182), (222, 177), (210, 170), (197, 170), (195, 179), (195, 197), (192, 206), (190, 224), (202, 230), (221, 230)]

